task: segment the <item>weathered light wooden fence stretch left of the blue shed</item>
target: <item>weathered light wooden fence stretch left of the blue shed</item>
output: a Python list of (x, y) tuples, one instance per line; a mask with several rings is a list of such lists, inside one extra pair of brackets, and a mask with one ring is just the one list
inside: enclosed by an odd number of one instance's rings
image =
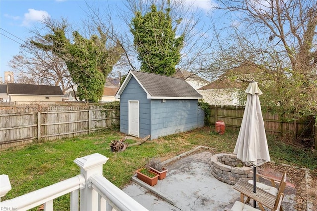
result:
[(119, 115), (103, 104), (0, 107), (0, 149), (89, 134), (119, 125)]

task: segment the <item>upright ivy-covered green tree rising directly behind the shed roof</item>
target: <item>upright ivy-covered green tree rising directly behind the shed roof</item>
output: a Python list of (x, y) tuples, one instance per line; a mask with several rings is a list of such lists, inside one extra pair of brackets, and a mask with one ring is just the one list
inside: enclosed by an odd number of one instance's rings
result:
[[(141, 61), (141, 71), (160, 75), (173, 75), (175, 66), (180, 61), (180, 50), (183, 47), (184, 35), (176, 37), (176, 28), (168, 8), (165, 12), (157, 10), (152, 4), (151, 11), (142, 16), (136, 12), (132, 19), (131, 32), (134, 46)], [(181, 20), (177, 21), (177, 24)]]

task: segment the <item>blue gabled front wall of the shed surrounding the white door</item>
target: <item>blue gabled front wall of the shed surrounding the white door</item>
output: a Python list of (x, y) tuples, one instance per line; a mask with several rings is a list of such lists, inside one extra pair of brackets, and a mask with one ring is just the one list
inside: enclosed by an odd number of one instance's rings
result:
[(129, 132), (128, 101), (139, 101), (139, 136), (150, 135), (150, 99), (140, 84), (132, 77), (120, 96), (120, 132)]

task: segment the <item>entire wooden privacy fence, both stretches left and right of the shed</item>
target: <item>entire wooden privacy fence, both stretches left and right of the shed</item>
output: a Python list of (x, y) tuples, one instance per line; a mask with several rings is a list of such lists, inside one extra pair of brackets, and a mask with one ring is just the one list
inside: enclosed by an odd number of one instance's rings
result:
[[(226, 128), (239, 130), (245, 106), (211, 105), (212, 125), (222, 120)], [(263, 112), (264, 126), (274, 135), (297, 137), (303, 131), (317, 133), (309, 117), (293, 120), (292, 114)], [(0, 149), (23, 145), (33, 140), (53, 140), (89, 134), (96, 130), (117, 126), (119, 108), (105, 109), (103, 104), (0, 107)], [(317, 145), (317, 135), (315, 146)]]

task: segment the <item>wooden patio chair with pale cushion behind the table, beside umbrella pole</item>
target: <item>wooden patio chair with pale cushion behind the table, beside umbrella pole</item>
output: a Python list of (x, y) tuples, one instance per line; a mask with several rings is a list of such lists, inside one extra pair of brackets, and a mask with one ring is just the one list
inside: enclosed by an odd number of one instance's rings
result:
[[(281, 178), (280, 181), (272, 178), (272, 177), (268, 177), (268, 176), (264, 176), (262, 174), (257, 174), (257, 178), (258, 177), (262, 177), (264, 179), (268, 179), (271, 181), (271, 184), (272, 186), (269, 186), (269, 185), (266, 185), (266, 184), (263, 184), (261, 182), (257, 182), (257, 187), (258, 188), (261, 188), (262, 190), (274, 195), (274, 196), (277, 196), (278, 193), (283, 193), (284, 192), (284, 189), (286, 187), (286, 172), (283, 173), (283, 176)], [(253, 180), (248, 180), (248, 182), (250, 184), (253, 184)], [(285, 182), (285, 183), (283, 183)], [(276, 183), (279, 183), (279, 186), (278, 188), (276, 188)]]

